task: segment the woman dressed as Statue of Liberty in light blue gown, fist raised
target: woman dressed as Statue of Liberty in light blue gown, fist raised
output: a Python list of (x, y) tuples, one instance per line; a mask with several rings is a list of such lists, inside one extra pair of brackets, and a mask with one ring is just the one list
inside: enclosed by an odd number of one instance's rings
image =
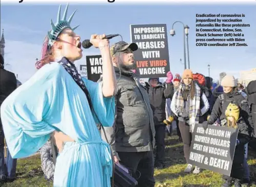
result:
[(51, 135), (57, 156), (53, 186), (109, 187), (112, 176), (110, 147), (96, 123), (112, 126), (113, 92), (116, 84), (105, 35), (92, 35), (103, 59), (103, 82), (95, 83), (78, 74), (74, 62), (82, 58), (80, 36), (67, 19), (51, 20), (42, 49), (41, 68), (19, 86), (1, 106), (1, 119), (8, 149), (13, 158), (30, 156)]

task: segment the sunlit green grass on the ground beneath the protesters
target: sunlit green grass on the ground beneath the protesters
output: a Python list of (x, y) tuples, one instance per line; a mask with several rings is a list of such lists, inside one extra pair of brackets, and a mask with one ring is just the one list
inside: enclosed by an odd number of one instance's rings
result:
[[(202, 173), (186, 174), (184, 169), (186, 162), (183, 156), (183, 144), (177, 142), (178, 136), (166, 138), (166, 168), (155, 170), (156, 187), (164, 186), (216, 186), (222, 184), (221, 174), (204, 170)], [(256, 153), (249, 150), (248, 163), (250, 167), (251, 180), (256, 181)], [(3, 187), (43, 187), (52, 186), (41, 170), (39, 155), (35, 155), (17, 161), (17, 177), (13, 182), (1, 184)], [(256, 185), (254, 185), (256, 187)]]

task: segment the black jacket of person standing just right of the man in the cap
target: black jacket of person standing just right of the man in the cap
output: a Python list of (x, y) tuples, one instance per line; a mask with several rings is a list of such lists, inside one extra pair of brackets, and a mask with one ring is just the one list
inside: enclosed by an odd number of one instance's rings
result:
[(152, 87), (149, 83), (146, 83), (146, 88), (148, 90), (150, 106), (154, 114), (154, 123), (155, 125), (161, 125), (166, 120), (166, 99), (172, 98), (173, 96), (173, 84), (159, 83), (155, 87)]

